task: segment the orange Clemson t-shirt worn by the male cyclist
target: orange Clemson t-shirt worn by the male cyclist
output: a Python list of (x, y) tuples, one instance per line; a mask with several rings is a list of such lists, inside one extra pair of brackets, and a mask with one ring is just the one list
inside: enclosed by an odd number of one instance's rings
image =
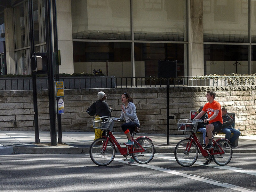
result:
[(207, 114), (208, 114), (208, 118), (210, 118), (214, 114), (214, 111), (216, 109), (219, 110), (219, 114), (218, 114), (217, 117), (215, 117), (214, 119), (209, 121), (209, 123), (220, 121), (220, 123), (223, 124), (221, 106), (220, 106), (220, 103), (218, 101), (213, 100), (212, 103), (210, 103), (210, 102), (206, 103), (204, 105), (203, 111), (206, 111)]

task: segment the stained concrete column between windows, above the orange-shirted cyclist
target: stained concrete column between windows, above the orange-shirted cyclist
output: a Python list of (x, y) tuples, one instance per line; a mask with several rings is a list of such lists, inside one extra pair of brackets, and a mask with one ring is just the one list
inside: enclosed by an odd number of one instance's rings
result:
[(203, 0), (188, 0), (188, 76), (204, 75)]

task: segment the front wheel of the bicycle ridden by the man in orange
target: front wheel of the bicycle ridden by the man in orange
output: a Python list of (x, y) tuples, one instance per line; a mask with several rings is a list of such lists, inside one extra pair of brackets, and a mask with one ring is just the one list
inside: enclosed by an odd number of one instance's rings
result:
[(181, 140), (175, 147), (174, 156), (177, 163), (183, 167), (193, 165), (196, 163), (198, 157), (198, 149), (196, 144), (189, 139)]

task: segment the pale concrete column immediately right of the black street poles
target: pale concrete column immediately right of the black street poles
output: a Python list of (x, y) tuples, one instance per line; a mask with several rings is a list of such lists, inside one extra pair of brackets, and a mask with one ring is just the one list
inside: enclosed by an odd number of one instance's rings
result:
[(56, 0), (60, 73), (74, 73), (71, 0)]

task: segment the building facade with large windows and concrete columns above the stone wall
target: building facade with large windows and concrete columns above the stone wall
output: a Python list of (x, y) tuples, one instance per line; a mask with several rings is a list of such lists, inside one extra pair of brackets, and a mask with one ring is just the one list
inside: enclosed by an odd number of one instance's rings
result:
[[(46, 52), (44, 0), (32, 0), (35, 52)], [(56, 0), (60, 73), (178, 76), (256, 73), (256, 0)], [(27, 0), (0, 1), (1, 74), (31, 74)]]

